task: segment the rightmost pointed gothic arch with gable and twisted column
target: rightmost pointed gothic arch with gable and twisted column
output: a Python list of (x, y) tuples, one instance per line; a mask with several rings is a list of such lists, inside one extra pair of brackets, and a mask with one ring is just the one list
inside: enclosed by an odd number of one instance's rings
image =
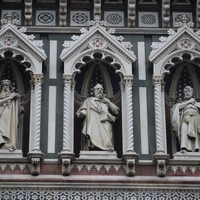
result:
[(200, 64), (199, 31), (195, 33), (192, 23), (184, 16), (179, 26), (177, 32), (170, 29), (169, 36), (161, 37), (161, 42), (153, 42), (149, 56), (153, 63), (156, 154), (170, 154), (171, 158), (179, 149), (171, 131), (170, 110), (173, 104), (182, 100), (184, 86), (193, 86), (197, 99), (200, 86), (197, 72)]

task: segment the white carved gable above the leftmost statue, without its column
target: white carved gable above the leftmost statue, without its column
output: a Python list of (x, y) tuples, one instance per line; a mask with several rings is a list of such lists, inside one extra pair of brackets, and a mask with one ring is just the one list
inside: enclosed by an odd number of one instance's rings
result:
[(46, 59), (43, 42), (34, 40), (34, 35), (26, 35), (26, 28), (17, 29), (16, 20), (12, 19), (12, 15), (8, 14), (7, 19), (1, 20), (2, 28), (0, 30), (0, 54), (4, 57), (6, 51), (11, 51), (13, 57), (22, 55), (24, 60), (21, 62), (29, 62), (31, 67), (29, 70), (33, 73), (41, 73), (41, 63)]

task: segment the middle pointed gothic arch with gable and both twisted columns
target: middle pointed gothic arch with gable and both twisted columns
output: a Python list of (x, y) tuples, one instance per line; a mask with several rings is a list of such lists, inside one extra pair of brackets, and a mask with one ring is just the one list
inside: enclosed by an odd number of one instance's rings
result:
[[(132, 109), (132, 63), (136, 60), (134, 53), (131, 51), (129, 42), (122, 42), (122, 37), (112, 35), (114, 30), (106, 31), (103, 22), (99, 19), (92, 21), (93, 26), (89, 30), (81, 29), (80, 36), (73, 36), (75, 41), (65, 41), (65, 47), (61, 53), (61, 60), (64, 62), (64, 125), (63, 125), (63, 153), (74, 153), (74, 101), (81, 101), (75, 98), (75, 79), (78, 73), (86, 66), (91, 69), (91, 65), (99, 62), (98, 66), (103, 66), (102, 74), (104, 80), (108, 66), (114, 69), (118, 74), (120, 82), (118, 83), (121, 90), (121, 115), (122, 115), (122, 155), (127, 152), (134, 152), (134, 133), (133, 133), (133, 109)], [(96, 56), (96, 57), (95, 57)], [(98, 57), (99, 56), (99, 57)], [(106, 67), (107, 66), (107, 67)], [(86, 77), (91, 77), (92, 72)], [(83, 81), (84, 82), (84, 81)], [(106, 82), (106, 81), (105, 81)], [(84, 82), (88, 87), (88, 82)], [(105, 83), (107, 90), (112, 89), (110, 80)], [(87, 88), (88, 90), (88, 88)], [(113, 95), (113, 92), (109, 94)], [(127, 117), (128, 116), (128, 117)], [(80, 133), (79, 133), (80, 134)]]

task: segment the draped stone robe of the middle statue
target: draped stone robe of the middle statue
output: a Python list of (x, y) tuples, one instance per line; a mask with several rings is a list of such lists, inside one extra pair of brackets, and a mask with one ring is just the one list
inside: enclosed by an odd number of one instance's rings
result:
[(101, 103), (98, 98), (91, 97), (83, 102), (76, 114), (79, 116), (83, 109), (87, 114), (83, 121), (82, 133), (90, 138), (90, 143), (86, 146), (88, 148), (95, 146), (102, 150), (113, 149), (112, 123), (115, 117), (109, 112), (108, 106)]

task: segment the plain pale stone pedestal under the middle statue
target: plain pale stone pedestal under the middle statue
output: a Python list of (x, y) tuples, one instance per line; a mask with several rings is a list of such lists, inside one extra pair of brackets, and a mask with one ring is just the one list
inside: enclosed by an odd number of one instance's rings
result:
[(80, 151), (81, 159), (103, 159), (103, 160), (111, 160), (111, 159), (118, 159), (116, 151), (109, 152), (109, 151)]

